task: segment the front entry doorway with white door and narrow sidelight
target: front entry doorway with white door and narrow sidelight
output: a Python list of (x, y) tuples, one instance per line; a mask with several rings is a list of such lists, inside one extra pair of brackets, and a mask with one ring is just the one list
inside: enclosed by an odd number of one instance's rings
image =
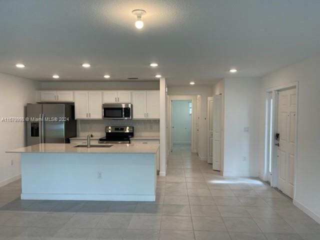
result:
[(266, 92), (265, 178), (294, 198), (297, 84)]

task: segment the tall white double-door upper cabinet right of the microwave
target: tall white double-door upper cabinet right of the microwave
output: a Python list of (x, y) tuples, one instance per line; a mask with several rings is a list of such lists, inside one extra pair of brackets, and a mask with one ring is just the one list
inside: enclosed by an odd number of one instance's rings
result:
[(159, 91), (132, 91), (133, 118), (160, 118)]

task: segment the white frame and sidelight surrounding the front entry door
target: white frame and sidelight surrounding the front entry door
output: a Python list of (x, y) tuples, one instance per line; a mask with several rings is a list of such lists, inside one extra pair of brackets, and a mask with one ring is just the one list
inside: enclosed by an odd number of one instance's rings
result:
[[(297, 169), (297, 145), (298, 145), (298, 82), (283, 84), (281, 86), (271, 87), (265, 90), (265, 135), (264, 135), (264, 179), (270, 181), (272, 187), (277, 187), (277, 161), (276, 149), (274, 146), (274, 135), (278, 130), (277, 126), (277, 111), (278, 111), (278, 98), (277, 92), (290, 88), (295, 88), (296, 105), (295, 105), (295, 149), (294, 149), (294, 164), (293, 164), (293, 199), (295, 199), (295, 186), (296, 186), (296, 169)], [(270, 99), (272, 98), (272, 109), (270, 109)], [(270, 119), (272, 114), (272, 119)], [(269, 120), (270, 119), (270, 120)], [(272, 133), (273, 137), (270, 137)], [(271, 156), (271, 157), (270, 157)], [(269, 174), (269, 160), (271, 159), (271, 174)]]

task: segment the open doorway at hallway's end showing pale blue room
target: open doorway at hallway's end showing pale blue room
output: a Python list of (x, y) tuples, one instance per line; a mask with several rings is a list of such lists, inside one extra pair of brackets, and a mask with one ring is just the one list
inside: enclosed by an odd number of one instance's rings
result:
[(172, 100), (172, 151), (191, 151), (192, 101)]

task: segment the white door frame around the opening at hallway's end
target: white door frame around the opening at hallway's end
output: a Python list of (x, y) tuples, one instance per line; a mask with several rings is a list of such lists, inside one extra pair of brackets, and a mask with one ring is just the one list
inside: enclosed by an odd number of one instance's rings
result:
[(172, 151), (172, 100), (191, 100), (192, 114), (191, 114), (191, 152), (197, 152), (196, 149), (196, 95), (169, 95), (168, 96), (168, 120), (169, 120), (169, 151)]

